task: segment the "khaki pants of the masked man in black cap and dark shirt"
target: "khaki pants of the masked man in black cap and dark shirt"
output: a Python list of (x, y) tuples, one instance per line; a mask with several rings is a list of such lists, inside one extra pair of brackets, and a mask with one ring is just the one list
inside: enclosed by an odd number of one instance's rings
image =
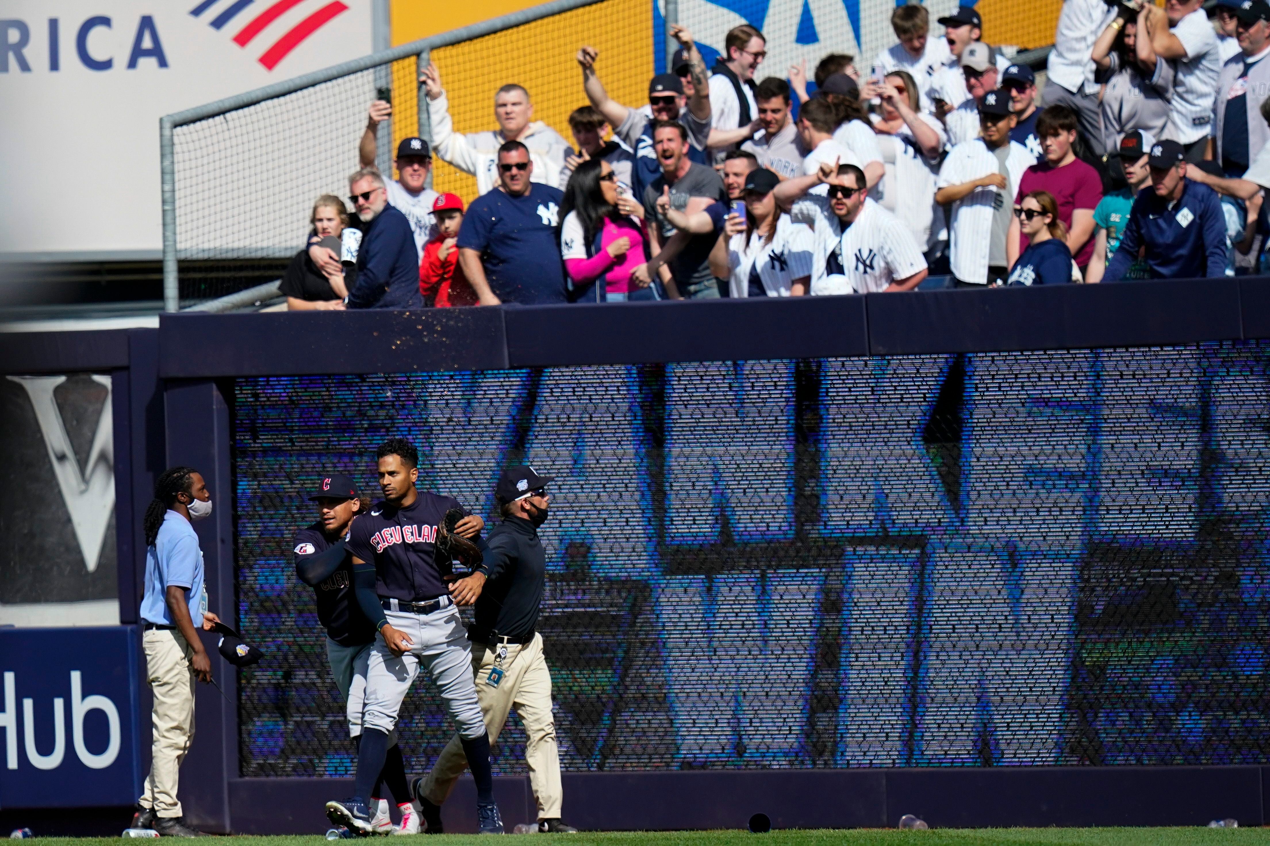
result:
[[(530, 765), (530, 785), (533, 798), (538, 802), (538, 819), (560, 817), (564, 790), (560, 788), (560, 752), (555, 742), (555, 720), (551, 717), (551, 671), (542, 656), (542, 635), (535, 634), (533, 641), (525, 646), (509, 643), (507, 658), (499, 665), (504, 676), (498, 687), (486, 681), (494, 666), (494, 652), (490, 644), (472, 643), (472, 670), (476, 674), (476, 699), (489, 742), (498, 739), (507, 713), (516, 706), (516, 713), (525, 723), (527, 741), (525, 761)], [(437, 765), (428, 774), (423, 785), (423, 795), (433, 804), (442, 804), (455, 786), (455, 781), (467, 769), (464, 747), (455, 734), (437, 758)]]

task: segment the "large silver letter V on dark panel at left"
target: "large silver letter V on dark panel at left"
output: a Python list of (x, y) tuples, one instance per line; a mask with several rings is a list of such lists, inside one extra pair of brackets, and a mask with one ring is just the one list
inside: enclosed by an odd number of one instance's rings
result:
[(84, 567), (95, 572), (105, 544), (105, 529), (114, 512), (114, 424), (110, 412), (110, 377), (94, 375), (93, 382), (105, 387), (105, 402), (97, 419), (93, 445), (85, 467), (79, 465), (70, 435), (62, 421), (53, 391), (66, 382), (65, 375), (11, 375), (30, 398), (39, 433), (44, 436), (48, 460), (53, 465), (57, 487), (71, 516), (71, 528), (84, 553)]

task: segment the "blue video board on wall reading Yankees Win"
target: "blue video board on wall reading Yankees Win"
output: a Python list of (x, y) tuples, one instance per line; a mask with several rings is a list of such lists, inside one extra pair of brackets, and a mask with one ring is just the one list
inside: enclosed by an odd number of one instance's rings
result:
[[(414, 441), (559, 476), (568, 770), (1264, 764), (1270, 345), (241, 379), (243, 775), (352, 766), (291, 538)], [(411, 770), (448, 738), (431, 686)], [(513, 719), (497, 767), (522, 772)]]

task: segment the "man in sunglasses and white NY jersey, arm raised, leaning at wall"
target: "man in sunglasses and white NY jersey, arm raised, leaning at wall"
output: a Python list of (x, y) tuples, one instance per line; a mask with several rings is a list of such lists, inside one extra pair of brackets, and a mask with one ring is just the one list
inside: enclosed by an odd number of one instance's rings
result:
[[(822, 183), (824, 197), (806, 193)], [(909, 228), (866, 190), (864, 170), (837, 161), (776, 186), (776, 202), (812, 227), (813, 296), (912, 290), (926, 278), (926, 257)]]

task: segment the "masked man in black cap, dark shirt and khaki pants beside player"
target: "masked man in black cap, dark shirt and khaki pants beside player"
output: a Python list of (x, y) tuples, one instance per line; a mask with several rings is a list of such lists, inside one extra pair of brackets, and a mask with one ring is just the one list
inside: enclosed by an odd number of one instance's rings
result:
[[(503, 521), (489, 533), (484, 561), (450, 590), (460, 605), (476, 604), (467, 639), (472, 642), (476, 698), (490, 737), (498, 739), (513, 705), (525, 723), (525, 760), (538, 802), (538, 831), (577, 833), (560, 821), (564, 793), (551, 717), (551, 671), (542, 656), (542, 635), (533, 630), (546, 585), (538, 526), (547, 519), (546, 485), (551, 481), (532, 467), (503, 471), (494, 488)], [(415, 779), (410, 785), (429, 832), (441, 831), (441, 804), (465, 769), (461, 743), (461, 737), (451, 738), (427, 780)]]

